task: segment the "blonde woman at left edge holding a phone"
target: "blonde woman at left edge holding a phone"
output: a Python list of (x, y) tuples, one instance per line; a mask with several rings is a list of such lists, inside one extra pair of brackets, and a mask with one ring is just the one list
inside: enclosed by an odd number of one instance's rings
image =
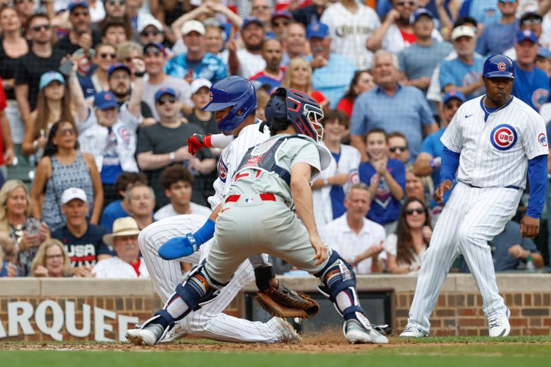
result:
[(30, 275), (32, 259), (41, 242), (50, 238), (50, 229), (32, 218), (29, 191), (21, 180), (8, 180), (0, 189), (0, 233), (16, 244), (20, 275)]

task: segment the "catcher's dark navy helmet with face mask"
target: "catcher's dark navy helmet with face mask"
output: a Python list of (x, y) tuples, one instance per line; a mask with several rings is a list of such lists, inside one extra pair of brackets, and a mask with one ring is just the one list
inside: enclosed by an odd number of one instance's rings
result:
[(273, 92), (264, 109), (269, 123), (275, 120), (287, 120), (295, 127), (298, 134), (306, 135), (313, 140), (323, 138), (323, 111), (314, 98), (289, 88), (278, 88)]

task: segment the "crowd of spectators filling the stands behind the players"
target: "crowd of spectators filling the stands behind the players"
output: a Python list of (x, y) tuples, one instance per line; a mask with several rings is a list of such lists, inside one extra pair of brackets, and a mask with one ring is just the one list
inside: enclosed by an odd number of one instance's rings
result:
[[(1, 0), (0, 32), (0, 277), (148, 277), (141, 229), (211, 213), (220, 149), (186, 140), (218, 133), (201, 108), (226, 76), (253, 83), (260, 119), (280, 86), (324, 109), (315, 220), (357, 273), (422, 265), (440, 137), (485, 93), (487, 56), (551, 120), (551, 0)], [(496, 271), (545, 267), (551, 231), (518, 233), (489, 244)]]

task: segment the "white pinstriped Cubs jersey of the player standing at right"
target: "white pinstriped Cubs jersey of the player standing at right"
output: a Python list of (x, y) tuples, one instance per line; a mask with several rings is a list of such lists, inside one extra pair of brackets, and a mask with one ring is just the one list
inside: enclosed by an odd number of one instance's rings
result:
[(475, 187), (524, 189), (528, 160), (549, 154), (543, 118), (514, 97), (488, 114), (484, 98), (461, 105), (441, 137), (461, 153), (457, 179)]

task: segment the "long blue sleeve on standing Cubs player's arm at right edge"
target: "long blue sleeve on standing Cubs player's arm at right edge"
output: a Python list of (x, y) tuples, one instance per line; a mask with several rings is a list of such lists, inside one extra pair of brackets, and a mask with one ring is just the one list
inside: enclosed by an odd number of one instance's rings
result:
[(530, 199), (526, 215), (539, 219), (547, 189), (547, 155), (542, 154), (528, 160), (528, 181), (530, 181)]

